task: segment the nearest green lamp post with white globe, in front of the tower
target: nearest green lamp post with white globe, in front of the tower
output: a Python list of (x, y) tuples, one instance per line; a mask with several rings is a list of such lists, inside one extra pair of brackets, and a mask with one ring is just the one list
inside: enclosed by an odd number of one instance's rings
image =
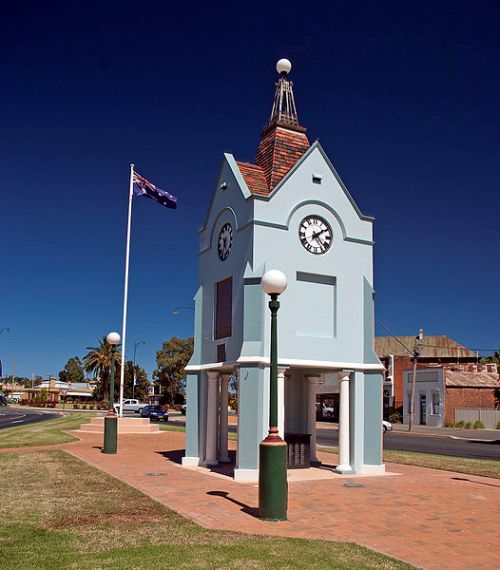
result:
[(261, 286), (271, 297), (271, 358), (269, 433), (259, 446), (259, 517), (268, 521), (287, 520), (287, 447), (278, 430), (278, 296), (287, 287), (286, 276), (276, 269), (267, 271)]

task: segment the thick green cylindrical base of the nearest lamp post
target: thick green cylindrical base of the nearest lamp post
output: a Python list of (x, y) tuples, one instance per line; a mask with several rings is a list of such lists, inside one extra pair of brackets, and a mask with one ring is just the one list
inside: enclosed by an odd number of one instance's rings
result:
[(287, 445), (269, 435), (259, 447), (259, 518), (286, 521), (288, 505)]

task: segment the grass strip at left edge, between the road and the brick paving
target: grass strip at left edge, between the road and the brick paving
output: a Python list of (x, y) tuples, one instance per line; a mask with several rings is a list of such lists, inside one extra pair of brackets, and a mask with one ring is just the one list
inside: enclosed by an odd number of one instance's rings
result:
[(68, 414), (38, 424), (2, 429), (0, 430), (0, 448), (53, 445), (75, 441), (75, 437), (63, 433), (63, 430), (78, 429), (81, 424), (90, 422), (91, 417), (90, 414)]

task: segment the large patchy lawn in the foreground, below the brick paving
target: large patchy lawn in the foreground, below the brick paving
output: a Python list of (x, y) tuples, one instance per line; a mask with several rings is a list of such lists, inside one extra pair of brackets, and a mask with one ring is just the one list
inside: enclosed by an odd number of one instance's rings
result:
[(64, 451), (0, 454), (2, 570), (409, 569), (354, 544), (203, 529)]

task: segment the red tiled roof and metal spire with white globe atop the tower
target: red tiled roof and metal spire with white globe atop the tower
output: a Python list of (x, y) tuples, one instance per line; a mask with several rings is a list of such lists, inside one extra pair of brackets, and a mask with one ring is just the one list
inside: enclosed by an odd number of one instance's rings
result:
[(310, 147), (306, 129), (299, 124), (293, 83), (288, 79), (292, 64), (280, 59), (276, 70), (274, 103), (255, 158), (255, 165), (238, 163), (252, 194), (268, 195)]

